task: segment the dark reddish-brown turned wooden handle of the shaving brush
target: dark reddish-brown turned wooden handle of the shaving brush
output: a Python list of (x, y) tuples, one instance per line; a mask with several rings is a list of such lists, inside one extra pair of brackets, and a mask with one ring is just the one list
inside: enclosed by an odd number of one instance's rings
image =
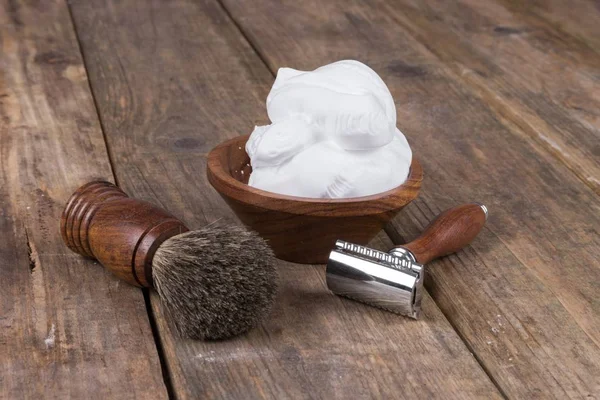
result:
[(60, 221), (65, 244), (97, 259), (119, 278), (152, 287), (158, 246), (188, 228), (165, 210), (133, 199), (110, 182), (90, 182), (73, 193)]

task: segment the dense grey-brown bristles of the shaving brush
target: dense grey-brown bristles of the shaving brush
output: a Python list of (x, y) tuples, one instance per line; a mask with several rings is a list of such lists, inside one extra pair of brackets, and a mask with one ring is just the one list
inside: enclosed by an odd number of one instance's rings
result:
[(209, 226), (167, 239), (152, 277), (182, 336), (225, 339), (268, 314), (277, 290), (267, 243), (238, 226)]

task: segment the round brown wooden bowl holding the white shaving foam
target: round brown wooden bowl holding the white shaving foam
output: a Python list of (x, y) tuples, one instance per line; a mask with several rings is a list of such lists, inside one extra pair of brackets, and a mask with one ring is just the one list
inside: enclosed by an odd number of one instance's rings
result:
[(228, 140), (210, 152), (208, 180), (283, 260), (324, 264), (337, 239), (367, 244), (421, 188), (423, 170), (413, 157), (406, 182), (372, 196), (313, 199), (256, 189), (247, 184), (252, 172), (245, 150), (248, 137)]

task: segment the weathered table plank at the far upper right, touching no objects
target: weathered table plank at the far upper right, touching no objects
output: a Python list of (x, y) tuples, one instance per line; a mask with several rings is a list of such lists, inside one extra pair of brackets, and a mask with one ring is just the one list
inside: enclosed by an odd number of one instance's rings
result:
[(600, 194), (600, 53), (507, 3), (378, 1), (497, 114)]

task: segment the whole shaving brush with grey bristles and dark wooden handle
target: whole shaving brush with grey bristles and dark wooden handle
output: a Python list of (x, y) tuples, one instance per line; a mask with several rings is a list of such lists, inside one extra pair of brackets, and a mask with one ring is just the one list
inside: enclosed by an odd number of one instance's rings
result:
[(257, 325), (273, 302), (274, 257), (261, 237), (237, 226), (189, 231), (110, 182), (80, 187), (60, 229), (71, 250), (132, 285), (156, 289), (182, 336), (238, 335)]

